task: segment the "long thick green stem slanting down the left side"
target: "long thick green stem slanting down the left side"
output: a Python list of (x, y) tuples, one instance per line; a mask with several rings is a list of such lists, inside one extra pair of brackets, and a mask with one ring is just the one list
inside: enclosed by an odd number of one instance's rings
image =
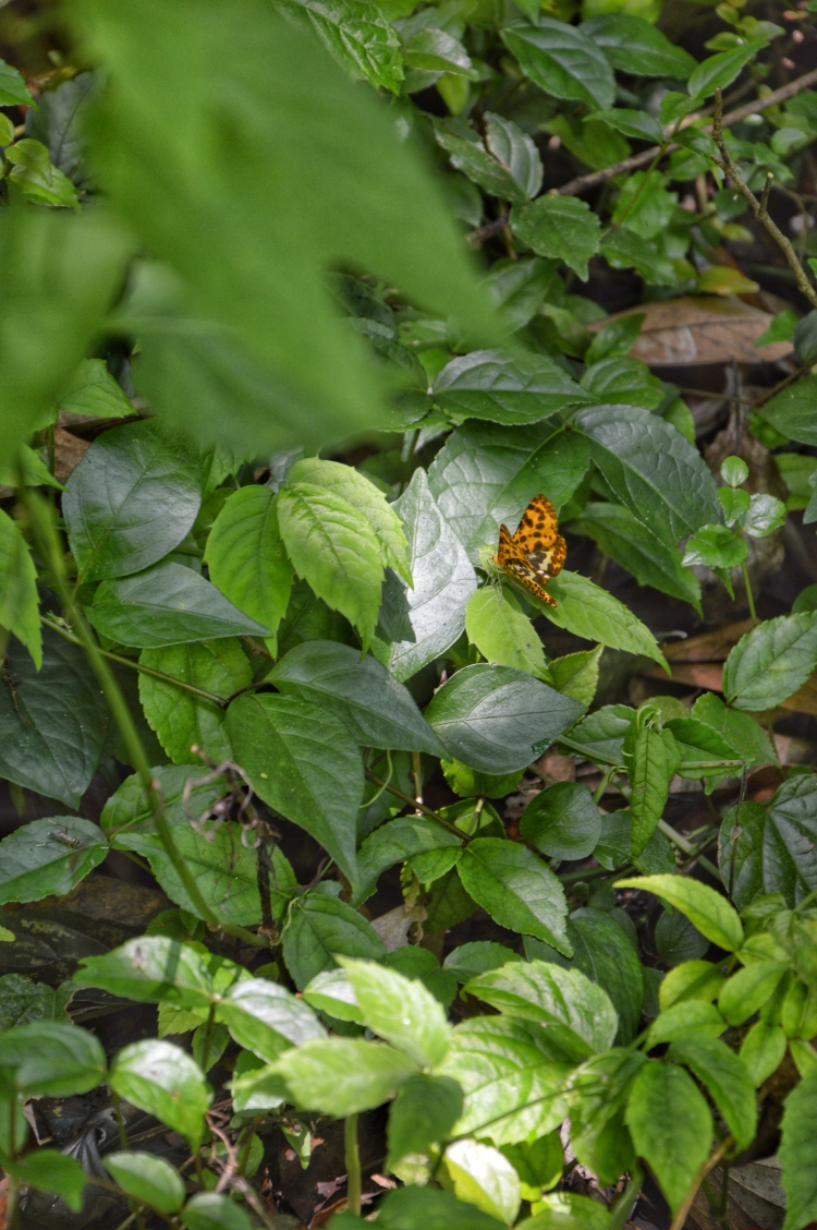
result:
[(27, 488), (23, 490), (26, 491), (25, 499), (32, 519), (34, 534), (37, 535), (39, 542), (39, 549), (45, 560), (48, 560), (53, 572), (53, 579), (59, 597), (65, 606), (65, 611), (72, 627), (76, 630), (80, 645), (86, 652), (91, 669), (97, 676), (106, 700), (111, 706), (111, 712), (113, 713), (113, 718), (119, 727), (119, 733), (122, 734), (128, 759), (141, 779), (145, 793), (147, 795), (147, 802), (152, 813), (154, 824), (156, 825), (156, 833), (162, 843), (165, 854), (170, 859), (176, 875), (181, 879), (184, 891), (193, 904), (194, 911), (211, 926), (227, 931), (230, 935), (238, 936), (246, 943), (252, 943), (254, 947), (265, 947), (265, 941), (262, 940), (260, 936), (253, 935), (253, 932), (247, 931), (246, 927), (221, 921), (201, 895), (201, 891), (195, 882), (190, 868), (173, 840), (171, 827), (167, 823), (167, 817), (165, 815), (165, 800), (162, 798), (158, 782), (154, 779), (151, 772), (147, 756), (145, 755), (145, 749), (143, 748), (141, 739), (139, 738), (139, 732), (136, 731), (134, 720), (130, 716), (128, 702), (122, 695), (119, 684), (104, 661), (103, 654), (100, 652), (100, 646), (91, 636), (91, 631), (85, 621), (82, 611), (77, 608), (68, 588), (63, 565), (63, 551), (57, 536), (57, 530), (54, 529), (50, 509), (48, 504), (34, 492)]

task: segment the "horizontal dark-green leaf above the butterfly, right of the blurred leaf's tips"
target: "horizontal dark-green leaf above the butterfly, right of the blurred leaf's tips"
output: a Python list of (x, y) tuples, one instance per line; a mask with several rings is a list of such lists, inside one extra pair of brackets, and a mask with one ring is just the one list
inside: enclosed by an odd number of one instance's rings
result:
[(472, 351), (447, 363), (434, 381), (435, 403), (455, 422), (538, 423), (591, 400), (553, 359), (525, 351)]

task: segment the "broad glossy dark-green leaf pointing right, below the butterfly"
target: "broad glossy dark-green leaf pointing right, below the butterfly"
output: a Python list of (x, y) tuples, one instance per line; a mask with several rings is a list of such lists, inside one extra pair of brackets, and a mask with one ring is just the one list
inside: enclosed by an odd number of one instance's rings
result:
[(463, 764), (483, 772), (522, 769), (581, 715), (581, 706), (511, 667), (475, 663), (458, 670), (425, 711)]

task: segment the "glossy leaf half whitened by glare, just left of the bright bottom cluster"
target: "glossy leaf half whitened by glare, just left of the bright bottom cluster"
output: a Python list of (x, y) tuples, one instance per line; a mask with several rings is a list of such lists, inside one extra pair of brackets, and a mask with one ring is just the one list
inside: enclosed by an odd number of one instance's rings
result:
[(312, 1009), (265, 978), (233, 983), (219, 1000), (216, 1020), (224, 1021), (238, 1046), (267, 1063), (326, 1034)]

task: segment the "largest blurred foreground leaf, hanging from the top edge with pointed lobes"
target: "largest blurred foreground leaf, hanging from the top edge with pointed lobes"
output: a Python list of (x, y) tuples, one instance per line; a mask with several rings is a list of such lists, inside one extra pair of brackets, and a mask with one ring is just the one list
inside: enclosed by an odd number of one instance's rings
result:
[(466, 327), (493, 327), (453, 220), (396, 121), (272, 5), (104, 0), (74, 14), (111, 73), (91, 138), (115, 208), (181, 276), (178, 308), (193, 328), (226, 330), (238, 365), (279, 408), (259, 415), (246, 394), (220, 421), (195, 401), (171, 405), (161, 370), (176, 362), (171, 347), (143, 359), (163, 413), (258, 448), (372, 426), (380, 379), (324, 288), (338, 262)]

